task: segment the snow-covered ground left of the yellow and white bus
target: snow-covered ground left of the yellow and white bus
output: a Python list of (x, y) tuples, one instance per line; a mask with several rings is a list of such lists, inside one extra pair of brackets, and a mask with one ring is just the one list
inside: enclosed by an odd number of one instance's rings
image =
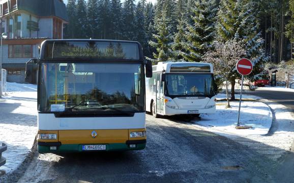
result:
[(3, 153), (6, 174), (17, 169), (31, 152), (37, 132), (37, 86), (7, 83), (0, 98), (0, 142), (8, 145)]

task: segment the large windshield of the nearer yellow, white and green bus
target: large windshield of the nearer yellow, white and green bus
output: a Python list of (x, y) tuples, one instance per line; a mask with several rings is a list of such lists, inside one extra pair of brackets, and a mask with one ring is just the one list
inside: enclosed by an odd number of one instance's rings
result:
[(39, 112), (123, 114), (144, 110), (141, 64), (42, 63)]

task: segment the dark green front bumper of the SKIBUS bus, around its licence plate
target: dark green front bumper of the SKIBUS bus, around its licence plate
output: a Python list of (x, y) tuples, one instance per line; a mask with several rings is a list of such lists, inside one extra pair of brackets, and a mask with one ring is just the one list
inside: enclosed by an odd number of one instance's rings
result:
[[(130, 147), (135, 144), (135, 147)], [(83, 151), (83, 145), (106, 145), (106, 150)], [(146, 146), (146, 140), (127, 140), (126, 143), (103, 143), (103, 144), (62, 144), (61, 142), (38, 142), (38, 152), (63, 154), (63, 153), (81, 153), (81, 152), (101, 152), (101, 151), (129, 151), (143, 150)], [(50, 147), (56, 147), (56, 150), (50, 150)], [(51, 148), (55, 149), (55, 148)]]

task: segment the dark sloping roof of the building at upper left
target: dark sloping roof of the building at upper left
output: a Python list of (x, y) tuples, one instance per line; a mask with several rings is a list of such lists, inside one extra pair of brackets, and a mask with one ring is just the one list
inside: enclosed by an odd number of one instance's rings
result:
[(55, 16), (69, 20), (66, 6), (60, 0), (21, 0), (17, 1), (17, 9), (31, 12), (39, 17)]

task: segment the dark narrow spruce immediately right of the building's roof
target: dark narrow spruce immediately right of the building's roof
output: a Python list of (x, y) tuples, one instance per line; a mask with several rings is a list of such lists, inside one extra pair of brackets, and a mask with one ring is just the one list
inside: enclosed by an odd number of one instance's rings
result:
[(68, 0), (66, 9), (69, 18), (69, 24), (66, 25), (64, 38), (73, 39), (76, 38), (75, 27), (77, 26), (76, 0)]

